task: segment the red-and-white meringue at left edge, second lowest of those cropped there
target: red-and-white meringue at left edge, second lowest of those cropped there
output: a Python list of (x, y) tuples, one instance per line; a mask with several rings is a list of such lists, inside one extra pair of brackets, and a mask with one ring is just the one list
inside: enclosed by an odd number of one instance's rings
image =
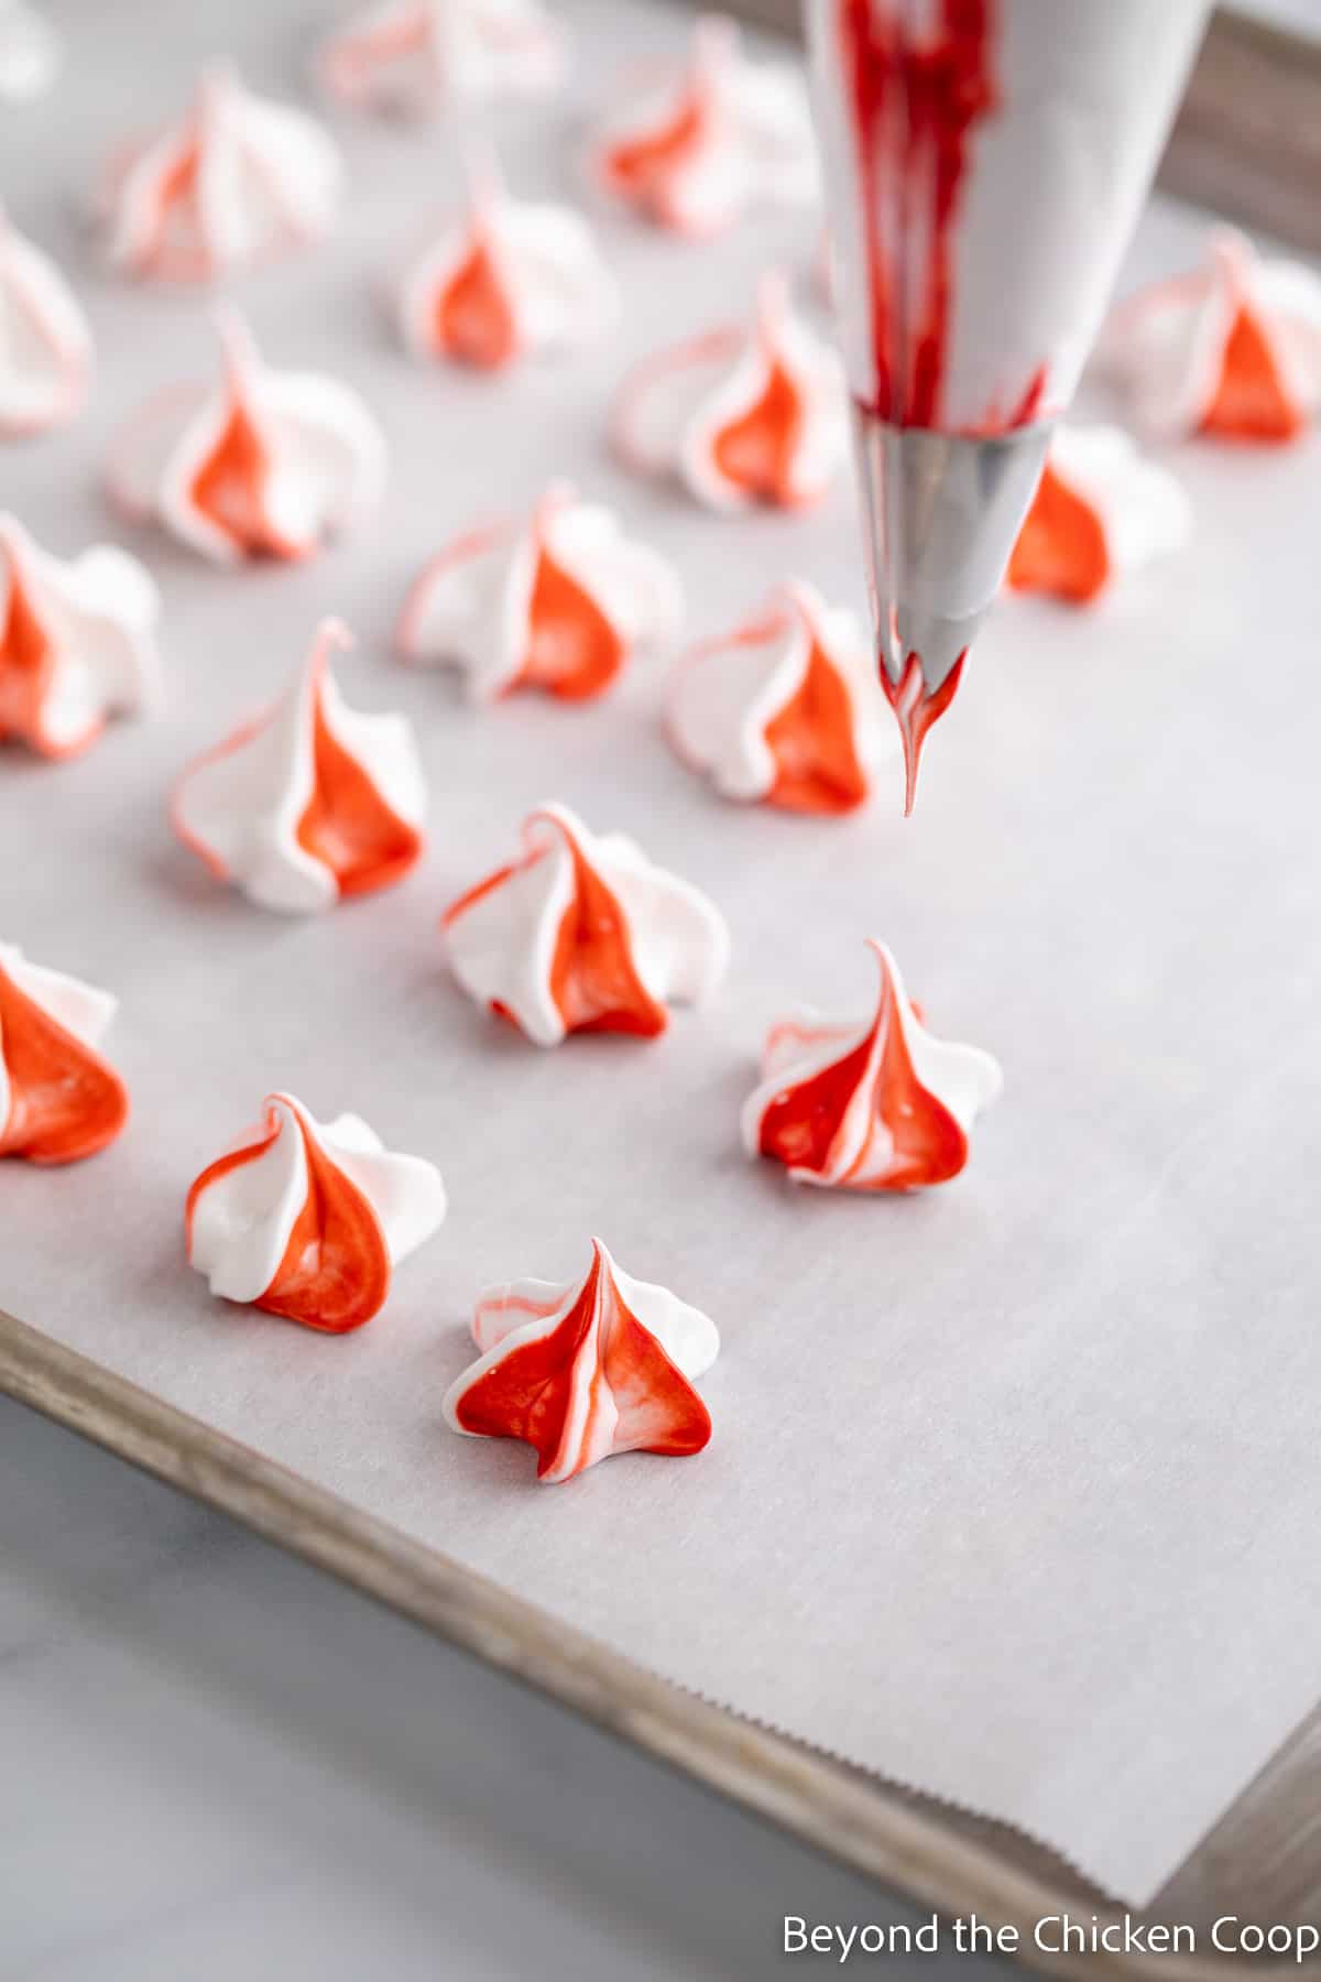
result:
[(65, 563), (0, 515), (0, 743), (73, 757), (111, 716), (154, 708), (158, 618), (137, 557), (99, 543)]

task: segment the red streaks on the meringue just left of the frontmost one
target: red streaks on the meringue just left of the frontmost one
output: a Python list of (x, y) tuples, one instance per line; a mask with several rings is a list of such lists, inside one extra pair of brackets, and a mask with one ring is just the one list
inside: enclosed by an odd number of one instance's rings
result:
[[(368, 1199), (307, 1132), (291, 1110), (307, 1157), (307, 1197), (271, 1284), (252, 1304), (267, 1314), (343, 1336), (378, 1314), (390, 1292), (390, 1249)], [(192, 1223), (202, 1193), (246, 1163), (255, 1163), (277, 1136), (289, 1134), (275, 1110), (259, 1138), (210, 1163), (188, 1191), (184, 1229), (192, 1255)]]

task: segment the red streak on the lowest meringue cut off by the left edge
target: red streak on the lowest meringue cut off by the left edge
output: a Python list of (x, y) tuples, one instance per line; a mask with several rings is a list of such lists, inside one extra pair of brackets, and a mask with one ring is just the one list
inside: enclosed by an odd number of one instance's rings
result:
[(129, 1094), (115, 1068), (20, 991), (2, 967), (0, 1048), (10, 1090), (0, 1156), (75, 1163), (119, 1136), (129, 1120)]

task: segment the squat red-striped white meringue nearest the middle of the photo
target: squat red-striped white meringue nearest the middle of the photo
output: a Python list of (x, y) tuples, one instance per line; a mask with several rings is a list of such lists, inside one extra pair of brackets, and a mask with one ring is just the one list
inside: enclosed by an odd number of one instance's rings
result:
[(697, 1005), (729, 961), (725, 918), (622, 832), (566, 805), (523, 823), (523, 852), (442, 920), (467, 995), (539, 1046), (568, 1033), (663, 1033), (665, 1001)]

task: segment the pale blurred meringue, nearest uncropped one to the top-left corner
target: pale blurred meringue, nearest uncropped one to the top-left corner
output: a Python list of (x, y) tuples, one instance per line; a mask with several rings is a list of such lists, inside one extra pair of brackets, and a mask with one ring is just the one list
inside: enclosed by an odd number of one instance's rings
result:
[(97, 210), (115, 268), (212, 281), (329, 234), (341, 178), (313, 117), (254, 95), (218, 61), (178, 123), (109, 165)]

